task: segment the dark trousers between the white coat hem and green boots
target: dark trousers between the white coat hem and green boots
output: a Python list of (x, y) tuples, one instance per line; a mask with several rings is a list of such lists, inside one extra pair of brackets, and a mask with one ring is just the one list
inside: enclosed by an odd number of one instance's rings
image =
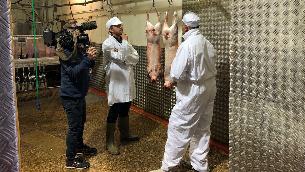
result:
[(128, 117), (130, 106), (131, 102), (114, 103), (112, 106), (110, 106), (107, 122), (115, 123), (118, 117)]

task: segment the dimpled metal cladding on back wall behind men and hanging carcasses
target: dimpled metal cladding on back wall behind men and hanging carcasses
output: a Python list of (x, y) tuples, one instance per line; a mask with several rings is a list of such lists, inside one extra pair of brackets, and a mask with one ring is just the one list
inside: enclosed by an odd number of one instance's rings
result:
[[(183, 12), (197, 12), (201, 17), (202, 34), (214, 45), (217, 50), (217, 96), (214, 104), (214, 116), (211, 125), (211, 137), (228, 144), (229, 133), (229, 48), (230, 48), (230, 1), (212, 1), (212, 3), (183, 1)], [(197, 11), (196, 11), (197, 10)], [(95, 43), (96, 44), (96, 43)], [(101, 44), (96, 44), (102, 52)], [(100, 46), (100, 47), (99, 47)], [(146, 76), (147, 58), (145, 46), (134, 46), (140, 55), (140, 61), (135, 66), (135, 81), (137, 98), (132, 104), (148, 112), (169, 119), (176, 102), (175, 86), (173, 90), (163, 89), (163, 79), (158, 84), (148, 82)], [(102, 57), (102, 55), (100, 54)], [(162, 66), (165, 68), (164, 48), (162, 49)], [(106, 91), (103, 59), (97, 60), (94, 76), (91, 77), (91, 86), (100, 91)]]

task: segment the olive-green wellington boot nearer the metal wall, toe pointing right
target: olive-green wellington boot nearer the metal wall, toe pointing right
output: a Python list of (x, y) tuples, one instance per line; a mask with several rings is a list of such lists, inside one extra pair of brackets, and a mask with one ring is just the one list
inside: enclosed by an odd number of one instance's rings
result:
[(118, 117), (119, 118), (119, 130), (120, 130), (120, 140), (127, 141), (137, 141), (140, 139), (138, 135), (132, 135), (129, 132), (129, 116), (128, 117)]

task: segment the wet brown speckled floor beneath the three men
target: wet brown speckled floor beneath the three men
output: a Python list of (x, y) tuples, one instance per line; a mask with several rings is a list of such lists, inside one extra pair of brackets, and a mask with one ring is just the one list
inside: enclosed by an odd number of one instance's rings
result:
[[(131, 132), (140, 135), (141, 140), (138, 142), (120, 142), (118, 128), (116, 128), (115, 142), (121, 154), (118, 156), (110, 155), (105, 150), (106, 117), (109, 107), (104, 97), (89, 91), (84, 141), (89, 143), (89, 146), (97, 148), (98, 153), (83, 156), (85, 160), (91, 163), (90, 168), (85, 170), (66, 169), (64, 143), (68, 124), (63, 107), (59, 102), (58, 88), (40, 92), (41, 111), (38, 111), (35, 107), (35, 94), (36, 92), (17, 94), (22, 172), (133, 172), (150, 171), (161, 167), (164, 145), (167, 139), (167, 127), (158, 121), (131, 111), (129, 113)], [(211, 149), (208, 159), (211, 171), (228, 171), (227, 154), (217, 149)], [(179, 169), (181, 172), (193, 171), (188, 170), (183, 165), (180, 165)]]

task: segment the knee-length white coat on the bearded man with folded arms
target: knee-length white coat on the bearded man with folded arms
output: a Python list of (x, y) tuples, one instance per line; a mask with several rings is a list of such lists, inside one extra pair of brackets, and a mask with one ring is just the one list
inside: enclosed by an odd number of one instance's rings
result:
[[(108, 104), (130, 102), (136, 97), (133, 66), (139, 61), (138, 52), (127, 41), (120, 44), (112, 35), (103, 42), (104, 69)], [(114, 49), (118, 52), (114, 52)]]

